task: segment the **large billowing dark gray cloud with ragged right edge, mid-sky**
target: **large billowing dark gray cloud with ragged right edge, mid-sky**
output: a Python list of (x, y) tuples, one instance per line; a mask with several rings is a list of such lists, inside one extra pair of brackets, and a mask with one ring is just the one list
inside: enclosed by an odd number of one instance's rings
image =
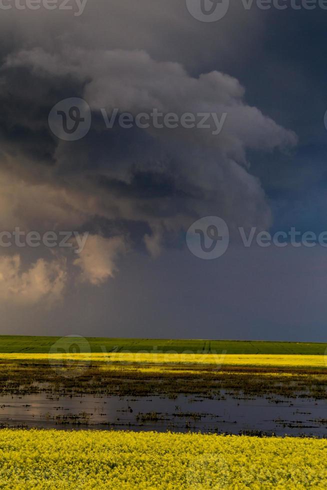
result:
[[(20, 69), (29, 70), (27, 78), (32, 76), (36, 83), (29, 100), (11, 114), (11, 129), (17, 128), (13, 139), (3, 131), (10, 156), (9, 163), (4, 158), (4, 166), (17, 170), (23, 158), (27, 184), (36, 178), (57, 190), (68, 188), (78, 194), (75, 208), (81, 213), (143, 220), (155, 230), (185, 228), (189, 217), (205, 212), (208, 204), (231, 223), (269, 224), (259, 181), (246, 171), (246, 148), (283, 149), (294, 145), (296, 136), (246, 105), (244, 90), (234, 78), (217, 71), (194, 78), (179, 63), (156, 62), (143, 51), (122, 50), (20, 50), (8, 55), (2, 67), (5, 84)], [(67, 80), (70, 93), (73, 87), (83, 87), (81, 95), (95, 113), (95, 127), (80, 141), (55, 141), (47, 127), (56, 87), (62, 90)], [(19, 97), (20, 86), (10, 84), (11, 104), (19, 105)], [(134, 115), (157, 108), (227, 116), (219, 135), (196, 128), (110, 130), (98, 114), (101, 108), (110, 112), (115, 107)], [(10, 103), (6, 108), (10, 112)], [(2, 118), (5, 126), (5, 110)], [(82, 195), (93, 199), (85, 205)]]

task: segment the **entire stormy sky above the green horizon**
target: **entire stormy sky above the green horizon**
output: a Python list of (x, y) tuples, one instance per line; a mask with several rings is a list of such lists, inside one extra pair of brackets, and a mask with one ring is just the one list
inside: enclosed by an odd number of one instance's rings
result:
[(325, 341), (327, 4), (262, 5), (0, 2), (0, 333)]

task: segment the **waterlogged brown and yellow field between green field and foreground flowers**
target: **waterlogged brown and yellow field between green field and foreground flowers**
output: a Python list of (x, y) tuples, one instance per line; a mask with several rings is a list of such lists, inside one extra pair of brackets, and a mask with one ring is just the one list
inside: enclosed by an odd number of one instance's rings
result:
[(237, 355), (213, 365), (204, 354), (179, 364), (117, 355), (63, 363), (2, 354), (0, 427), (327, 437), (320, 356), (253, 355), (238, 365)]

